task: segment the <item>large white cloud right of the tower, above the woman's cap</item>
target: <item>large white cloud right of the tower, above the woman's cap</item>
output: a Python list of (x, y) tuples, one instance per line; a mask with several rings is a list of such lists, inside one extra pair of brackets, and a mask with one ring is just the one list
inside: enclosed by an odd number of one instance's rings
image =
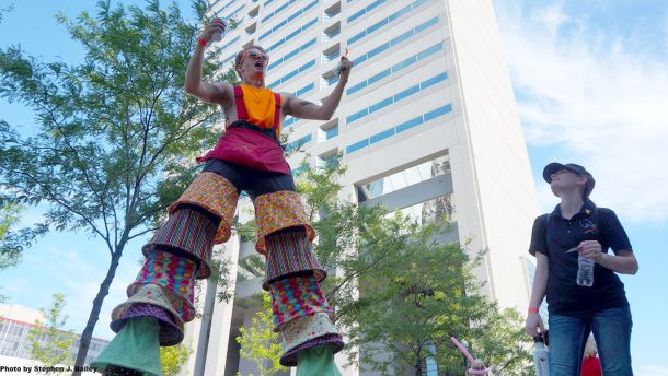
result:
[(637, 39), (586, 26), (562, 4), (496, 2), (527, 141), (592, 172), (597, 203), (633, 222), (664, 222), (668, 63)]

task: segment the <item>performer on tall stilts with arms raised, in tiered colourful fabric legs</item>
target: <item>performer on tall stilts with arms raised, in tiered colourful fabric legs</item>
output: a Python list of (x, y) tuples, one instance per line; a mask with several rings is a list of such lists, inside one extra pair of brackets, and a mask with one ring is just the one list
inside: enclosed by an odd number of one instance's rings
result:
[(322, 106), (265, 87), (269, 57), (260, 46), (237, 55), (243, 83), (203, 82), (204, 51), (226, 24), (216, 19), (198, 38), (186, 72), (185, 90), (222, 106), (229, 126), (214, 150), (198, 158), (203, 172), (169, 209), (169, 220), (143, 246), (146, 260), (127, 289), (128, 299), (112, 313), (117, 333), (92, 363), (107, 375), (161, 375), (159, 346), (183, 341), (184, 322), (195, 317), (195, 279), (210, 275), (215, 244), (230, 238), (239, 193), (253, 200), (256, 250), (266, 256), (263, 289), (272, 296), (275, 331), (283, 334), (280, 363), (298, 376), (341, 375), (333, 355), (344, 346), (329, 314), (320, 282), (326, 277), (312, 251), (315, 232), (279, 144), (287, 115), (329, 120), (350, 74), (341, 61), (339, 82)]

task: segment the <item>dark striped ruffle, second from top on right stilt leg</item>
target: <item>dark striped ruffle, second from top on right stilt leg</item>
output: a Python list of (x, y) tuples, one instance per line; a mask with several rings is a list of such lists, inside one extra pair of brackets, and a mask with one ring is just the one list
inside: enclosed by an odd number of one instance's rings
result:
[(262, 284), (264, 290), (268, 291), (270, 283), (289, 275), (313, 274), (318, 282), (327, 275), (318, 262), (303, 230), (267, 235), (266, 245), (265, 281)]

